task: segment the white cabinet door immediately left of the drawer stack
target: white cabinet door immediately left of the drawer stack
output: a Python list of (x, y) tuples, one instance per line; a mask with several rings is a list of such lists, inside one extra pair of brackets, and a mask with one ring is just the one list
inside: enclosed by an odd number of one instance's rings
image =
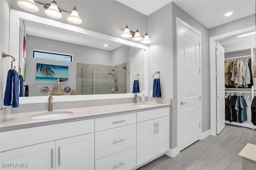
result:
[(93, 133), (56, 140), (56, 170), (93, 169)]

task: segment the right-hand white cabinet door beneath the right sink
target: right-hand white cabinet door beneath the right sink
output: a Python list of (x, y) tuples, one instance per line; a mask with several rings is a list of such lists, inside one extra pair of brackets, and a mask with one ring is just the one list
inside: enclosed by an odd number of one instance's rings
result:
[(155, 119), (155, 156), (169, 150), (169, 116)]

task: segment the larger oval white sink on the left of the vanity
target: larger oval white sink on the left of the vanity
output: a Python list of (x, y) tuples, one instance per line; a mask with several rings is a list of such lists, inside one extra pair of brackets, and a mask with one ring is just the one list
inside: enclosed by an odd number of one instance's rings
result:
[(72, 114), (73, 112), (68, 112), (68, 111), (51, 111), (51, 112), (38, 113), (36, 115), (30, 116), (29, 118), (30, 119), (52, 119), (52, 118), (64, 117)]

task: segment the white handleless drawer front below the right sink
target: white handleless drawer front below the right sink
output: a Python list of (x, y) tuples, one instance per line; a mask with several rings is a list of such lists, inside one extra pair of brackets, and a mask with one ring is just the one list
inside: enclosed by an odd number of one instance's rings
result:
[(170, 115), (170, 107), (137, 112), (137, 122), (148, 121)]

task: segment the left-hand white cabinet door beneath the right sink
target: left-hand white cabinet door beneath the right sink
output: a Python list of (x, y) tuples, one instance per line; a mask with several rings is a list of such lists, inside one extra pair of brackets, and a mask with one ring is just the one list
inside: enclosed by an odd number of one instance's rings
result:
[(155, 120), (137, 123), (137, 166), (154, 158)]

